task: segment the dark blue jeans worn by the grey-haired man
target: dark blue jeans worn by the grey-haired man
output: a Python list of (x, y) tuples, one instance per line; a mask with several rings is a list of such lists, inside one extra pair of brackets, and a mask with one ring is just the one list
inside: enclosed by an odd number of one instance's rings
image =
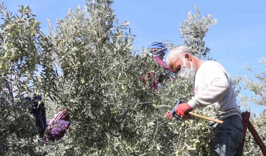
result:
[(223, 124), (214, 124), (210, 142), (211, 152), (214, 156), (234, 156), (243, 138), (243, 125), (238, 115), (223, 119)]

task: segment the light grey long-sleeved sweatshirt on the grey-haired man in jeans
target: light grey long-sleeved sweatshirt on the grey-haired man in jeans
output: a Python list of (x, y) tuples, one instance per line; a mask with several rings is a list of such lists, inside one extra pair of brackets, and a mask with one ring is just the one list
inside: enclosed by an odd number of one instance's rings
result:
[(222, 120), (232, 115), (241, 117), (241, 110), (236, 104), (236, 96), (230, 76), (215, 61), (205, 61), (195, 75), (195, 96), (188, 104), (192, 109), (203, 107), (205, 111), (222, 107), (217, 119)]

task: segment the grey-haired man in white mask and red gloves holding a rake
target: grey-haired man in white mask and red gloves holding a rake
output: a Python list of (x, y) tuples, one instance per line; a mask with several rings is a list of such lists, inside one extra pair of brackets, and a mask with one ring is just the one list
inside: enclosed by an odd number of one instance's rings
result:
[(167, 66), (185, 80), (195, 82), (195, 96), (179, 104), (175, 112), (187, 116), (196, 108), (220, 108), (217, 119), (223, 124), (212, 124), (214, 137), (210, 143), (215, 156), (233, 156), (242, 141), (243, 126), (241, 110), (236, 104), (232, 80), (220, 63), (202, 61), (186, 46), (176, 46), (168, 54)]

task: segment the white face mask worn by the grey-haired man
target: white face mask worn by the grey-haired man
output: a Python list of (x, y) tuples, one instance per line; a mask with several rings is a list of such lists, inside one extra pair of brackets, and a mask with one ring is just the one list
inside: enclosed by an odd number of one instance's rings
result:
[(194, 79), (194, 77), (196, 75), (196, 72), (195, 72), (194, 68), (192, 67), (191, 61), (190, 61), (191, 69), (187, 69), (185, 55), (184, 55), (183, 63), (184, 63), (184, 65), (180, 69), (180, 71), (178, 71), (178, 75), (181, 78), (185, 79), (185, 80), (192, 80), (192, 79)]

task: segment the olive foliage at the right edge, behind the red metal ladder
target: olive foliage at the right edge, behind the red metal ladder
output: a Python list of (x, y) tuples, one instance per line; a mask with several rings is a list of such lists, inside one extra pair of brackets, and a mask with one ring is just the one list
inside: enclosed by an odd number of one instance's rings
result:
[[(266, 65), (266, 59), (262, 58), (260, 63)], [(260, 74), (255, 73), (251, 70), (250, 66), (244, 66), (248, 71), (252, 72), (254, 77), (258, 80), (255, 82), (252, 78), (245, 76), (246, 79), (243, 80), (243, 85), (245, 89), (251, 90), (255, 96), (252, 97), (240, 97), (242, 106), (244, 106), (246, 111), (251, 112), (251, 123), (255, 127), (256, 131), (258, 132), (259, 136), (261, 137), (264, 144), (266, 143), (266, 111), (262, 111), (260, 115), (251, 111), (248, 102), (253, 102), (258, 106), (266, 106), (266, 70), (261, 71)], [(244, 155), (262, 155), (261, 150), (257, 143), (255, 142), (254, 138), (251, 136), (251, 133), (248, 132), (246, 138), (251, 137), (250, 142), (245, 142), (244, 145)]]

